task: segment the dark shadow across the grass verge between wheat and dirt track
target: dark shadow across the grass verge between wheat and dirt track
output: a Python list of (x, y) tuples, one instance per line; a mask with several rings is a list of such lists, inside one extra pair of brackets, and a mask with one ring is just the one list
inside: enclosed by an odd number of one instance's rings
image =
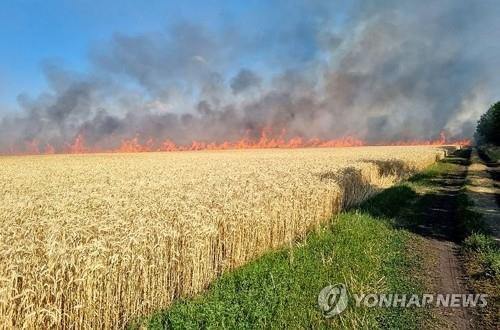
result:
[[(457, 165), (467, 165), (470, 154), (470, 149), (458, 150), (408, 182), (375, 195), (359, 209), (423, 237), (461, 241), (469, 231), (457, 213), (460, 204), (466, 203), (461, 197), (466, 171), (457, 170)], [(417, 187), (423, 192), (418, 193)], [(477, 221), (469, 218), (471, 223)]]

